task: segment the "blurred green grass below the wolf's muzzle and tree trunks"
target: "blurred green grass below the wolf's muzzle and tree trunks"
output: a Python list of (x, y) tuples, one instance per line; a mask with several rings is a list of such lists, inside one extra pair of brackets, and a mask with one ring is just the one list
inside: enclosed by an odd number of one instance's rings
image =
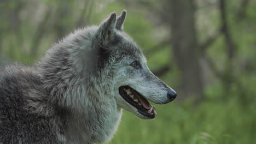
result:
[(109, 143), (256, 143), (255, 108), (255, 103), (241, 105), (235, 97), (225, 102), (204, 100), (197, 106), (189, 101), (156, 105), (158, 116), (153, 120), (139, 119), (124, 110)]

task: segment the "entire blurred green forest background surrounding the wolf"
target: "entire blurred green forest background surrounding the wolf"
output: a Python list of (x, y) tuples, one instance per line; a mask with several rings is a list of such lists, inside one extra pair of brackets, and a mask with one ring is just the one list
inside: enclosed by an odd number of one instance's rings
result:
[(124, 111), (109, 143), (256, 143), (255, 0), (0, 0), (0, 67), (33, 64), (123, 9), (124, 31), (178, 100), (152, 121)]

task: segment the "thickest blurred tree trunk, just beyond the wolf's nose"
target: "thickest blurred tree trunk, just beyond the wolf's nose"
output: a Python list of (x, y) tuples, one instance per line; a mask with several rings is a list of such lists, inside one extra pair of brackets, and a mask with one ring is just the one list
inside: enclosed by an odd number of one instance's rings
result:
[(170, 9), (172, 54), (181, 71), (177, 88), (179, 99), (203, 98), (200, 49), (196, 38), (193, 0), (168, 1)]

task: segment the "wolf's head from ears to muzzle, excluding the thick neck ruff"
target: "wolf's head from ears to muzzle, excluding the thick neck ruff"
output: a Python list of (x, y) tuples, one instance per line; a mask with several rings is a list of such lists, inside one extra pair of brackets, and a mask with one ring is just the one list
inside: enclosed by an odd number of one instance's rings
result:
[(113, 85), (113, 97), (117, 105), (139, 118), (154, 118), (156, 110), (148, 100), (166, 104), (175, 99), (177, 94), (149, 70), (141, 49), (123, 31), (125, 17), (125, 10), (118, 18), (112, 13), (98, 27), (96, 47), (100, 57), (105, 59), (101, 63), (111, 63), (108, 70), (112, 71), (113, 83), (109, 85)]

